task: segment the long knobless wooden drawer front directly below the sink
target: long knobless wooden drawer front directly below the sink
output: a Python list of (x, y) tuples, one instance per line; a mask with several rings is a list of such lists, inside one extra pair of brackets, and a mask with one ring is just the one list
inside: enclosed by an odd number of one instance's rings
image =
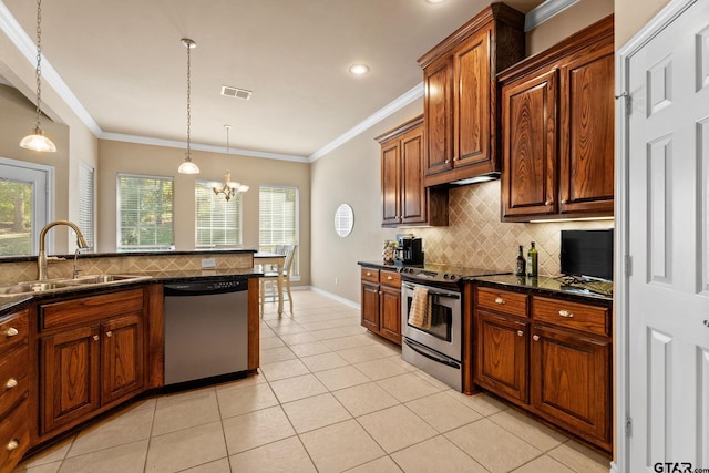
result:
[(143, 310), (143, 289), (129, 289), (40, 306), (40, 330), (51, 330)]

